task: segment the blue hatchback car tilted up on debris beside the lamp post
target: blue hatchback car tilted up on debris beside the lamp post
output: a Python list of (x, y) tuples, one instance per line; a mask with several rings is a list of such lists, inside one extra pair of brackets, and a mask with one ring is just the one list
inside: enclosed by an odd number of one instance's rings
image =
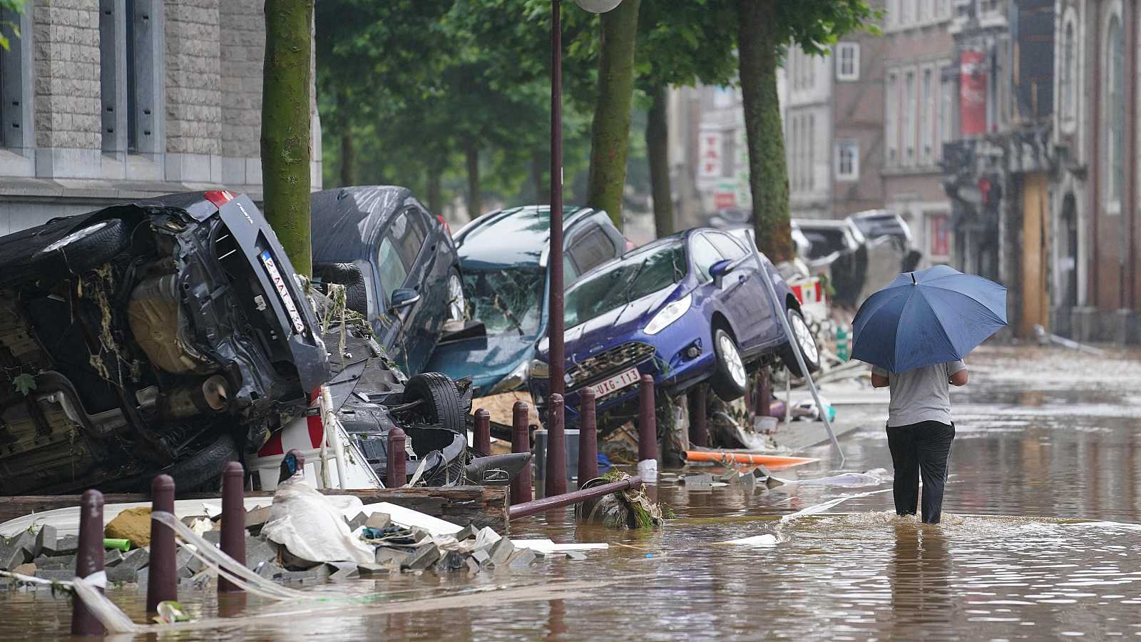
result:
[[(709, 382), (722, 400), (745, 393), (747, 370), (782, 358), (800, 374), (777, 314), (788, 319), (806, 364), (819, 351), (800, 302), (747, 234), (688, 230), (659, 239), (583, 274), (566, 294), (566, 418), (577, 422), (578, 394), (596, 392), (599, 428), (621, 424), (637, 406), (641, 375), (670, 395)], [(759, 254), (759, 252), (758, 252)], [(761, 279), (771, 279), (779, 310)], [(545, 409), (547, 342), (531, 368), (531, 390)], [(609, 412), (613, 422), (604, 422)], [(624, 420), (624, 419), (623, 419)], [(609, 425), (604, 425), (609, 423)]]

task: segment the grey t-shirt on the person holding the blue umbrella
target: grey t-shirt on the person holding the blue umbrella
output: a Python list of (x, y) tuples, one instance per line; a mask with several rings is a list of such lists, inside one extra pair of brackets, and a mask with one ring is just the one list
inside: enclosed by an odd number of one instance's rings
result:
[(965, 370), (962, 361), (924, 366), (906, 372), (888, 372), (879, 366), (872, 372), (888, 377), (891, 384), (891, 403), (888, 404), (888, 426), (909, 426), (920, 422), (939, 422), (950, 425), (950, 376)]

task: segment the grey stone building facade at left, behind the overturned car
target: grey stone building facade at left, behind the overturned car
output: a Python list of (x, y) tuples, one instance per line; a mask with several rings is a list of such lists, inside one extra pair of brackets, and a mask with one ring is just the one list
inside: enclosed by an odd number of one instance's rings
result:
[(172, 192), (260, 201), (261, 0), (29, 0), (0, 18), (22, 34), (0, 53), (0, 234)]

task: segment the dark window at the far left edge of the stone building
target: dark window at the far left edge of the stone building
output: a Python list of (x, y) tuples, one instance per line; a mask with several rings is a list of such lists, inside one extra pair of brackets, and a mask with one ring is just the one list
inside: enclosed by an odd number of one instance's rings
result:
[[(29, 129), (31, 125), (30, 78), (32, 35), (27, 7), (21, 15), (11, 9), (0, 9), (0, 27), (8, 37), (8, 49), (0, 50), (0, 147), (19, 150), (34, 143)], [(17, 38), (15, 29), (19, 27)], [(26, 63), (26, 67), (25, 67)]]

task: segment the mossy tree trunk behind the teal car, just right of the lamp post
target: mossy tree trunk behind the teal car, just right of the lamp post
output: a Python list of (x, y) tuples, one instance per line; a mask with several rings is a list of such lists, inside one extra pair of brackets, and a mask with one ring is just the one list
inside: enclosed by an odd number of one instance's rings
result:
[(586, 204), (605, 209), (622, 228), (622, 192), (626, 185), (630, 147), (630, 109), (634, 91), (634, 43), (638, 7), (625, 0), (602, 14), (601, 51), (598, 58), (598, 102), (590, 131), (590, 172)]

